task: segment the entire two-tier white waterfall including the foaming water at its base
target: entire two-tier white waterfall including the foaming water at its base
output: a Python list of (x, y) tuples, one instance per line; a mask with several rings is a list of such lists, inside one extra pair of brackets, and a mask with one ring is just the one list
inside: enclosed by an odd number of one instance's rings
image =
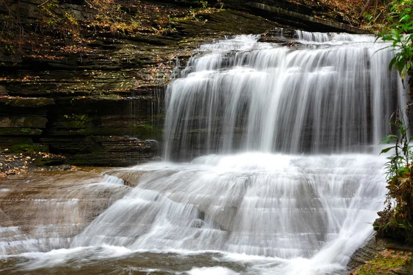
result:
[(295, 34), (200, 47), (167, 91), (165, 160), (191, 162), (111, 173), (136, 187), (5, 270), (345, 274), (383, 207), (376, 147), (403, 86), (373, 36)]

